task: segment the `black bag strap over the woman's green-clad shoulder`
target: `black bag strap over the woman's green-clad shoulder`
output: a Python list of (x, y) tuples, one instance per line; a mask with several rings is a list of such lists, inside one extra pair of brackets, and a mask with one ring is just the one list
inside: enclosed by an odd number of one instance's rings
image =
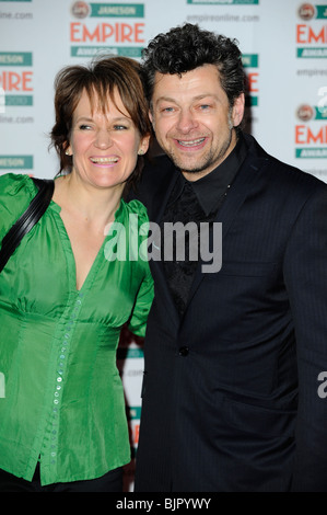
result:
[(22, 238), (31, 231), (46, 211), (54, 194), (55, 181), (32, 178), (38, 187), (38, 192), (30, 206), (7, 232), (2, 240), (0, 251), (0, 272), (4, 267), (13, 251), (19, 247)]

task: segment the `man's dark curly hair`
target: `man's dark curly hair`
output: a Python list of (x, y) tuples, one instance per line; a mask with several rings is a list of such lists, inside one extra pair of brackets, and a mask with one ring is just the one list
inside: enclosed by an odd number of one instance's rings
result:
[(203, 65), (217, 66), (230, 105), (245, 91), (238, 42), (186, 23), (155, 36), (143, 49), (142, 73), (149, 104), (155, 72), (182, 75)]

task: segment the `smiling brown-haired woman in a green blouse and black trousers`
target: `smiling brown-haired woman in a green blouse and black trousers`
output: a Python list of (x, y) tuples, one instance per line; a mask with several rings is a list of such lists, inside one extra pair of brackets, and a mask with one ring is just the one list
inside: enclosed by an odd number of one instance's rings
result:
[[(138, 67), (103, 57), (56, 79), (54, 197), (0, 274), (2, 491), (121, 491), (130, 445), (116, 348), (126, 322), (144, 334), (153, 285), (145, 260), (105, 248), (114, 221), (148, 220), (121, 199), (150, 137)], [(0, 178), (1, 240), (35, 194), (27, 175)]]

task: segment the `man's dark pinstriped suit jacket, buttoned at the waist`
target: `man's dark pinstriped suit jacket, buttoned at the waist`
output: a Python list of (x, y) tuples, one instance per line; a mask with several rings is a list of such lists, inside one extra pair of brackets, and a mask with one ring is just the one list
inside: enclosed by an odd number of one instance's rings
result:
[[(144, 344), (136, 491), (327, 491), (327, 185), (248, 154), (180, 320), (161, 262)], [(160, 221), (176, 180), (159, 157), (138, 198)]]

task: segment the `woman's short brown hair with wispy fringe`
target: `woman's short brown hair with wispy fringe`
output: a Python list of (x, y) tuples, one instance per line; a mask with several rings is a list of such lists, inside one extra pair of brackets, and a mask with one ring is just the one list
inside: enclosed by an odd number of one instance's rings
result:
[[(72, 157), (66, 153), (69, 147), (73, 112), (85, 90), (94, 108), (98, 102), (104, 113), (108, 108), (108, 96), (114, 102), (114, 90), (117, 89), (122, 104), (135, 126), (143, 138), (151, 134), (149, 108), (140, 76), (140, 65), (129, 57), (100, 56), (87, 66), (68, 66), (60, 70), (55, 79), (56, 123), (50, 133), (60, 161), (61, 172), (71, 172)], [(140, 163), (130, 179), (136, 180), (140, 173)]]

